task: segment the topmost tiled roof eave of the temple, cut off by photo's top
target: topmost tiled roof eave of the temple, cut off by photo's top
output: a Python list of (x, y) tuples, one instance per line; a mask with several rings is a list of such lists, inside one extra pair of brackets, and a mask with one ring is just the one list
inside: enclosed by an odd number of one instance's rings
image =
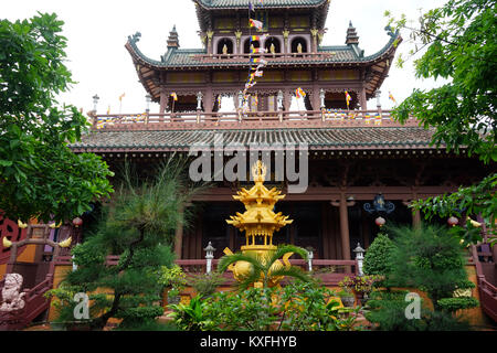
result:
[[(263, 0), (263, 8), (302, 8), (319, 6), (328, 0)], [(248, 0), (198, 0), (205, 8), (211, 9), (235, 9), (247, 8)], [(252, 3), (258, 8), (261, 2), (258, 0), (252, 0)]]

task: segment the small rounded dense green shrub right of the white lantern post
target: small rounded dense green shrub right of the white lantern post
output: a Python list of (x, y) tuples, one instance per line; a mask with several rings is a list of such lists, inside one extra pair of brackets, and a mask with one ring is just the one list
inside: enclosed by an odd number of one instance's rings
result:
[(392, 255), (395, 245), (387, 234), (380, 233), (366, 252), (363, 271), (366, 275), (390, 274), (392, 268)]

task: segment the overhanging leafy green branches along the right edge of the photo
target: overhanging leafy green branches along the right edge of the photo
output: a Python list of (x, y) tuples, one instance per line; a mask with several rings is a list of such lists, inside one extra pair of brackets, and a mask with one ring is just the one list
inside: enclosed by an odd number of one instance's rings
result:
[[(416, 117), (425, 128), (435, 129), (432, 142), (437, 147), (445, 146), (456, 153), (465, 148), (468, 156), (477, 154), (485, 163), (497, 161), (496, 11), (495, 0), (448, 0), (422, 14), (417, 28), (409, 26), (405, 17), (395, 21), (387, 13), (390, 24), (408, 31), (415, 43), (411, 55), (425, 49), (414, 62), (416, 76), (447, 81), (430, 90), (414, 89), (393, 116), (400, 121)], [(414, 207), (424, 211), (426, 218), (461, 212), (482, 214), (496, 235), (495, 186), (496, 174), (488, 175), (479, 185), (420, 201)], [(466, 222), (454, 227), (454, 232), (466, 242), (480, 239)]]

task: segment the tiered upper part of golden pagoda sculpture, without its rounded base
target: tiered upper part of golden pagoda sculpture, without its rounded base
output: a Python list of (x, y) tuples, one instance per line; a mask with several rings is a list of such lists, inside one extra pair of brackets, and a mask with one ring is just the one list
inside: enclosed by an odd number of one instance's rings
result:
[[(274, 213), (274, 205), (285, 199), (285, 195), (282, 195), (276, 188), (268, 190), (264, 186), (266, 173), (266, 165), (261, 161), (254, 163), (252, 175), (255, 185), (251, 190), (242, 188), (237, 195), (233, 196), (234, 200), (243, 202), (246, 211), (243, 214), (237, 212), (235, 216), (230, 216), (231, 220), (226, 220), (228, 224), (245, 232), (246, 246), (256, 246), (257, 236), (264, 237), (264, 245), (272, 246), (273, 233), (293, 222), (281, 212)], [(251, 237), (252, 243), (250, 244)]]

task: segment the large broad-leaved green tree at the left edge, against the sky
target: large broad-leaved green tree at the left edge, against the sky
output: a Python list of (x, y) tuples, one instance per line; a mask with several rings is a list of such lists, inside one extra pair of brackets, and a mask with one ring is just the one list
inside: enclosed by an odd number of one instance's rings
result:
[(0, 210), (28, 221), (71, 220), (113, 191), (99, 157), (67, 147), (87, 129), (56, 96), (73, 84), (55, 14), (0, 21)]

